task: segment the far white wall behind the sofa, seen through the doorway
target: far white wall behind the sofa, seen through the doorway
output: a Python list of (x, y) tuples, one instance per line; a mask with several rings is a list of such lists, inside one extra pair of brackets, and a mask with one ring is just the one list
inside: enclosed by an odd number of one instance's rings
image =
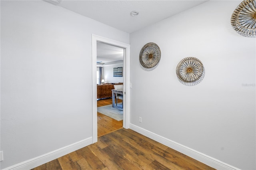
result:
[(108, 83), (123, 83), (124, 77), (114, 77), (113, 76), (113, 68), (114, 67), (123, 67), (123, 71), (124, 71), (124, 64), (104, 66), (103, 67), (103, 79), (105, 80), (105, 82), (108, 82)]

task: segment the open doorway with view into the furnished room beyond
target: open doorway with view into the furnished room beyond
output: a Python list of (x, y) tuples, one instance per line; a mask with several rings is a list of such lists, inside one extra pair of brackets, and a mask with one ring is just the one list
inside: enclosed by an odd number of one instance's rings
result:
[[(98, 137), (123, 127), (123, 100), (112, 89), (124, 83), (124, 48), (97, 42), (97, 132)], [(118, 97), (122, 97), (119, 95)], [(114, 104), (113, 100), (114, 98)]]

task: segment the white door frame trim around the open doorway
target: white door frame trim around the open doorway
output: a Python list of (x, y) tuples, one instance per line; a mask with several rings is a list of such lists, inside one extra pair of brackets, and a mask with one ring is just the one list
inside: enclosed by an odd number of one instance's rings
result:
[(123, 127), (130, 127), (130, 44), (110, 40), (92, 34), (92, 143), (98, 140), (97, 128), (97, 42), (124, 48), (124, 119)]

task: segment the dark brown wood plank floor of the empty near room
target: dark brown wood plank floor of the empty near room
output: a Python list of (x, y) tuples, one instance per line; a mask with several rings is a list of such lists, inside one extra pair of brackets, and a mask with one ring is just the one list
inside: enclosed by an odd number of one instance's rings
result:
[(214, 170), (131, 129), (121, 128), (32, 170)]

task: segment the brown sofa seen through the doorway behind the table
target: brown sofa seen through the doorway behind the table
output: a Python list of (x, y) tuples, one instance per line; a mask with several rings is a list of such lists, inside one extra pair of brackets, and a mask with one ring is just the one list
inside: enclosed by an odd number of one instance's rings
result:
[(112, 97), (112, 89), (114, 85), (122, 85), (123, 83), (105, 83), (97, 85), (97, 99)]

